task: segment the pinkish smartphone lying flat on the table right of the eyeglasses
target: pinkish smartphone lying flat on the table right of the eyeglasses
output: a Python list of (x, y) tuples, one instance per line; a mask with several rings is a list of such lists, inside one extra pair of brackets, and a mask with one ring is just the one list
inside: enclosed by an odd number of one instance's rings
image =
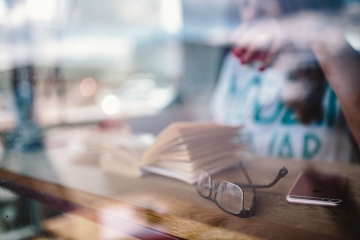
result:
[(337, 201), (343, 199), (346, 176), (303, 172), (289, 192), (292, 198)]

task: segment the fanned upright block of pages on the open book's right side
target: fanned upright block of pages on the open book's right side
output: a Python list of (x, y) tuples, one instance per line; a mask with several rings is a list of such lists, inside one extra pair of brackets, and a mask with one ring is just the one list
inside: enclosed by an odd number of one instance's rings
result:
[(141, 167), (194, 183), (202, 169), (216, 172), (237, 164), (241, 145), (236, 137), (240, 128), (214, 123), (173, 123), (144, 153)]

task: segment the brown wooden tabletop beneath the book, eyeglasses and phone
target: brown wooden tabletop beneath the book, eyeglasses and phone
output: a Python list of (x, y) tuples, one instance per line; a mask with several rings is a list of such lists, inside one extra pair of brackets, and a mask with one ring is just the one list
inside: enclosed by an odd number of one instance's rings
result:
[[(245, 166), (254, 183), (270, 182), (281, 167), (289, 173), (271, 189), (258, 190), (256, 215), (243, 219), (200, 197), (195, 186), (157, 175), (131, 179), (107, 174), (96, 164), (77, 164), (74, 158), (70, 150), (64, 149), (6, 154), (0, 163), (0, 185), (135, 238), (360, 238), (358, 165), (278, 159), (247, 161)], [(285, 196), (302, 170), (346, 173), (344, 205), (325, 208), (288, 204)], [(246, 182), (236, 168), (214, 178)], [(246, 204), (251, 200), (250, 193), (245, 194)]]

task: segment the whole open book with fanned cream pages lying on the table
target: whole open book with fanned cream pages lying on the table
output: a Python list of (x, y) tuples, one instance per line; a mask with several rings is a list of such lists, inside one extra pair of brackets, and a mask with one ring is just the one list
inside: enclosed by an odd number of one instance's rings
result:
[(200, 170), (221, 171), (239, 162), (240, 127), (176, 122), (152, 140), (128, 136), (105, 144), (100, 158), (109, 172), (140, 177), (152, 172), (194, 184)]

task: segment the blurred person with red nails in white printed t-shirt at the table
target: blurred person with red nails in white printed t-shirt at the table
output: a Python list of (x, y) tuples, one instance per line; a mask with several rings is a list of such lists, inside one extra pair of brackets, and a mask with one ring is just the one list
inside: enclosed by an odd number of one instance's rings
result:
[(341, 0), (238, 2), (242, 24), (212, 99), (215, 121), (244, 124), (258, 156), (353, 161), (360, 61), (329, 17), (340, 16)]

